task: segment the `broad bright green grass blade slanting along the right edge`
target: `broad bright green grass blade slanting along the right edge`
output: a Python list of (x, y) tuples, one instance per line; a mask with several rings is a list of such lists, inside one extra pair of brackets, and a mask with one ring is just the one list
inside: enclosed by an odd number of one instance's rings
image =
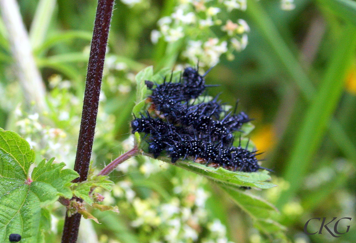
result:
[(351, 64), (356, 45), (356, 31), (347, 26), (331, 57), (324, 79), (310, 104), (296, 144), (288, 161), (284, 179), (290, 183), (288, 192), (281, 194), (277, 206), (285, 204), (300, 188), (315, 150), (319, 147), (330, 118), (336, 109)]

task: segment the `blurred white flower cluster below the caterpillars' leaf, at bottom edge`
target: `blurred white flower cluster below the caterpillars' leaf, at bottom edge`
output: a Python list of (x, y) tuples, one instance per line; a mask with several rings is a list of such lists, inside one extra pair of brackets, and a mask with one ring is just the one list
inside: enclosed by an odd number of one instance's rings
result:
[[(151, 159), (143, 161), (142, 166), (139, 167), (141, 173), (144, 175), (147, 173), (142, 167), (155, 167), (152, 173), (161, 170), (163, 162), (158, 162), (161, 163), (158, 167), (156, 162), (158, 161)], [(148, 163), (151, 165), (148, 166)], [(135, 168), (131, 168), (131, 172), (134, 170)], [(193, 243), (200, 239), (199, 242), (204, 243), (231, 243), (226, 237), (226, 227), (218, 219), (209, 218), (205, 209), (209, 193), (203, 189), (204, 178), (173, 177), (171, 183), (173, 194), (164, 201), (157, 193), (152, 193), (145, 199), (140, 198), (128, 178), (117, 182), (112, 188), (112, 196), (118, 201), (117, 205), (119, 207), (121, 205), (126, 211), (134, 212), (134, 216), (130, 216), (133, 219), (131, 226), (140, 235), (149, 232), (147, 239), (142, 239), (141, 242)]]

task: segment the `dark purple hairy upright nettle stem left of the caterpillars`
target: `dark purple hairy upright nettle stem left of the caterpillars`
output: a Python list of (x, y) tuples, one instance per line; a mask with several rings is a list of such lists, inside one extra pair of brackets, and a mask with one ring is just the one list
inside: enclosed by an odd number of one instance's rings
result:
[[(98, 114), (101, 78), (105, 60), (106, 44), (108, 43), (109, 27), (114, 0), (98, 0), (96, 9), (93, 39), (88, 63), (87, 81), (85, 84), (82, 121), (78, 139), (77, 156), (74, 170), (79, 178), (73, 182), (87, 180), (91, 150), (93, 147), (96, 115)], [(66, 216), (64, 222), (62, 243), (75, 243), (78, 237), (81, 215)]]

